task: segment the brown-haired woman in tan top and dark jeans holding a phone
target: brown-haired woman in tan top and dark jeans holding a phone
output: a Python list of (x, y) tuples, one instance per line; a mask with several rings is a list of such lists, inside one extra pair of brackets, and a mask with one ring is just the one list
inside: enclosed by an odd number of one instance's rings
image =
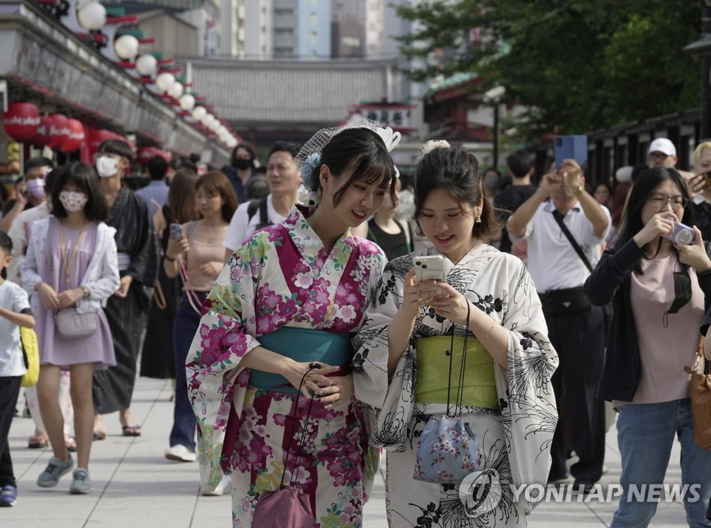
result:
[(188, 401), (185, 377), (186, 357), (200, 324), (200, 307), (223, 269), (225, 247), (222, 241), (237, 208), (235, 190), (220, 171), (210, 171), (198, 178), (195, 190), (201, 218), (182, 227), (170, 225), (170, 240), (163, 262), (169, 278), (181, 274), (184, 282), (173, 323), (176, 398), (171, 446), (166, 450), (166, 458), (181, 462), (194, 462), (197, 458), (195, 414)]

